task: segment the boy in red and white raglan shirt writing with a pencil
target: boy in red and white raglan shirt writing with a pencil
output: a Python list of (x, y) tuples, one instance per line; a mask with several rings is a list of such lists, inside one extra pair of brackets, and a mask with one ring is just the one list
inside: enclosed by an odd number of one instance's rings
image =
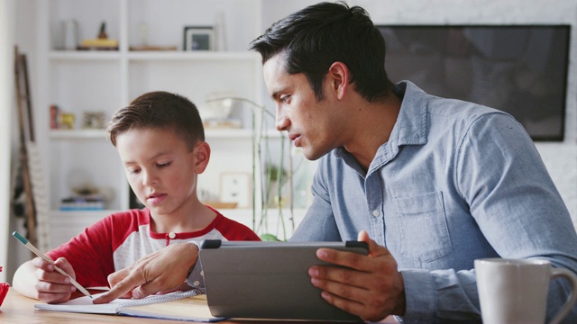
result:
[[(109, 215), (47, 253), (79, 284), (108, 285), (109, 275), (137, 261), (145, 263), (163, 247), (184, 250), (187, 242), (206, 238), (260, 240), (248, 227), (198, 200), (197, 176), (206, 169), (210, 147), (197, 107), (187, 98), (142, 94), (114, 114), (108, 135), (145, 208)], [(182, 266), (179, 261), (167, 262)], [(180, 290), (190, 289), (185, 279), (167, 275), (166, 280), (177, 281)], [(114, 275), (108, 280), (115, 284)], [(188, 282), (201, 286), (203, 279), (197, 275)], [(66, 302), (76, 291), (66, 276), (38, 257), (18, 268), (13, 284), (17, 292), (49, 303)]]

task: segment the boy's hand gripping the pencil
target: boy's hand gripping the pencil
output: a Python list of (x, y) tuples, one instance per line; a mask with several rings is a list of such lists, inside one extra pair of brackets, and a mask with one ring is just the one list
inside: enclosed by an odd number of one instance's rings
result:
[[(54, 264), (76, 279), (74, 270), (66, 258), (59, 257)], [(34, 286), (38, 292), (39, 301), (47, 303), (68, 302), (70, 295), (76, 292), (76, 287), (70, 284), (69, 277), (60, 275), (48, 261), (35, 257), (32, 260), (32, 266), (36, 267), (34, 275), (38, 282)]]

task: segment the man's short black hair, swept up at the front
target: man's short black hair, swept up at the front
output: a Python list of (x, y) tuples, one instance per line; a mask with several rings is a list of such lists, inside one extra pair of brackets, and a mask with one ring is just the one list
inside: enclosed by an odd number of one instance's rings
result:
[(282, 54), (287, 73), (307, 76), (319, 101), (328, 68), (337, 61), (349, 68), (351, 83), (367, 101), (385, 98), (393, 86), (385, 71), (385, 40), (360, 6), (307, 6), (273, 23), (249, 49), (261, 53), (262, 64)]

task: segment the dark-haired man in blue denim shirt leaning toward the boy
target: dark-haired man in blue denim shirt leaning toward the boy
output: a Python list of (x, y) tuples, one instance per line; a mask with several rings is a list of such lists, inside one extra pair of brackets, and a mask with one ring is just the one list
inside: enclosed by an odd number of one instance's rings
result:
[[(572, 221), (527, 132), (505, 112), (393, 85), (362, 8), (308, 6), (250, 49), (261, 53), (277, 129), (320, 158), (291, 240), (369, 243), (367, 257), (318, 250), (350, 267), (310, 269), (327, 302), (364, 320), (474, 322), (474, 259), (541, 257), (577, 270)], [(551, 285), (549, 319), (568, 292)]]

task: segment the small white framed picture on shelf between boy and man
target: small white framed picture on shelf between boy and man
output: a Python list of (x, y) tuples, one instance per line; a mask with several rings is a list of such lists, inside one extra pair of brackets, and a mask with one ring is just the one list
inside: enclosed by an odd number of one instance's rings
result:
[(251, 207), (251, 175), (244, 172), (220, 175), (220, 201), (237, 202), (239, 208)]

